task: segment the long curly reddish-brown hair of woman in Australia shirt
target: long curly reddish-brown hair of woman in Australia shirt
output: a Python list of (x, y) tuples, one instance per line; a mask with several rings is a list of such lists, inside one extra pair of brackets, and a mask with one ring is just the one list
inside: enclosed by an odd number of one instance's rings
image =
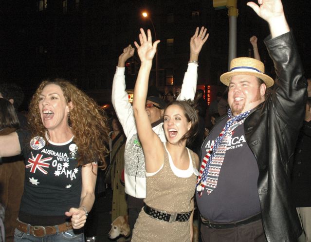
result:
[(45, 139), (47, 129), (43, 126), (39, 111), (39, 95), (49, 85), (58, 85), (66, 102), (72, 102), (69, 125), (73, 131), (73, 141), (78, 146), (78, 165), (98, 162), (106, 168), (105, 156), (108, 154), (106, 144), (109, 142), (108, 119), (105, 112), (83, 91), (64, 79), (47, 79), (41, 82), (29, 104), (28, 121), (32, 137)]

